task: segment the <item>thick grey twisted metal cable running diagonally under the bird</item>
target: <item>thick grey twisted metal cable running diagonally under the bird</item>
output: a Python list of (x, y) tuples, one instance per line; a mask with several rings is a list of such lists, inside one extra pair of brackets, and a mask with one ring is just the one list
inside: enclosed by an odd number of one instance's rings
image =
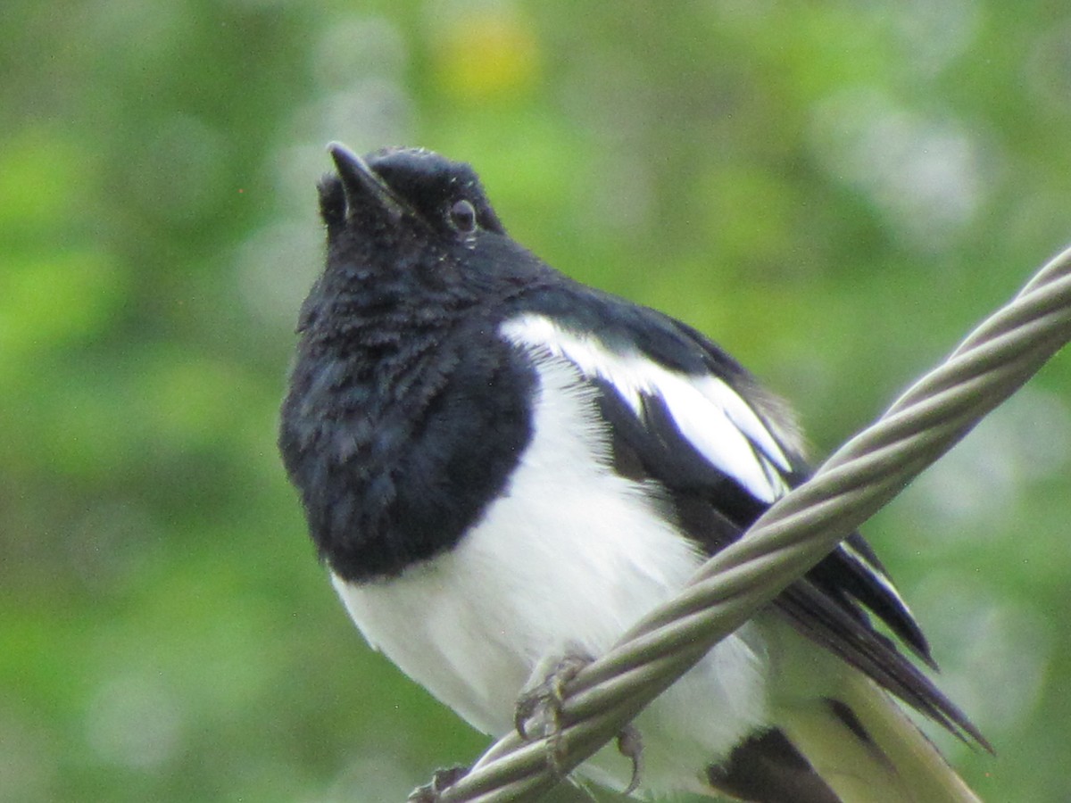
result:
[[(1071, 248), (1054, 258), (873, 425), (708, 560), (565, 685), (559, 768), (592, 756), (718, 641), (955, 445), (1071, 340)], [(494, 744), (442, 803), (536, 800), (561, 778), (543, 740)]]

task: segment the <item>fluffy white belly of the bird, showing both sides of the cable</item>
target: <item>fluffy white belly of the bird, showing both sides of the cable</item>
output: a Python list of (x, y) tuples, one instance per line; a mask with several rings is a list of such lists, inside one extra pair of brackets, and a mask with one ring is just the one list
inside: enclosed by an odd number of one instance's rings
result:
[[(506, 495), (455, 549), (389, 581), (333, 578), (369, 643), (496, 736), (513, 727), (541, 660), (605, 652), (700, 562), (652, 515), (650, 489), (602, 468), (608, 445), (573, 370), (548, 361), (540, 374), (539, 435)], [(765, 657), (758, 628), (745, 625), (640, 716), (645, 786), (693, 786), (766, 722)], [(627, 778), (627, 769), (621, 759), (616, 770)]]

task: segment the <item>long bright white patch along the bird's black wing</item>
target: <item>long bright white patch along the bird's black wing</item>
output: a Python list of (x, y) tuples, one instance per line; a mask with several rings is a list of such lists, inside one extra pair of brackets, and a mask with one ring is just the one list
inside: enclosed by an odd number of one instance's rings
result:
[(790, 470), (788, 458), (755, 411), (718, 377), (691, 377), (639, 352), (616, 353), (597, 335), (569, 331), (541, 315), (512, 318), (500, 331), (518, 346), (545, 349), (609, 382), (637, 418), (643, 395), (658, 396), (696, 451), (756, 499), (769, 504), (788, 490), (781, 473)]

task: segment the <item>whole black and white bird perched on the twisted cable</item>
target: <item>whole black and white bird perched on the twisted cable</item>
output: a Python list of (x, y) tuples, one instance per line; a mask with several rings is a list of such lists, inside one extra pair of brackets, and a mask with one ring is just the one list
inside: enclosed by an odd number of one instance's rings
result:
[[(368, 642), (500, 736), (541, 672), (604, 652), (808, 466), (733, 358), (542, 262), (467, 165), (330, 152), (284, 463)], [(851, 535), (637, 718), (637, 793), (977, 800), (892, 700), (985, 745), (905, 648), (934, 666)], [(580, 772), (630, 770), (610, 747)]]

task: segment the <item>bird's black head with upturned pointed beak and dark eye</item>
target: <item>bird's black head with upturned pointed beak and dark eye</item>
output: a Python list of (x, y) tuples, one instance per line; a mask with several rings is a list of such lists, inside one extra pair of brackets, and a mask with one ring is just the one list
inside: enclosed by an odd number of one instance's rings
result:
[(319, 185), (327, 268), (301, 330), (355, 312), (414, 320), (462, 309), (547, 270), (511, 240), (468, 165), (393, 148), (359, 156), (328, 147), (335, 171)]

